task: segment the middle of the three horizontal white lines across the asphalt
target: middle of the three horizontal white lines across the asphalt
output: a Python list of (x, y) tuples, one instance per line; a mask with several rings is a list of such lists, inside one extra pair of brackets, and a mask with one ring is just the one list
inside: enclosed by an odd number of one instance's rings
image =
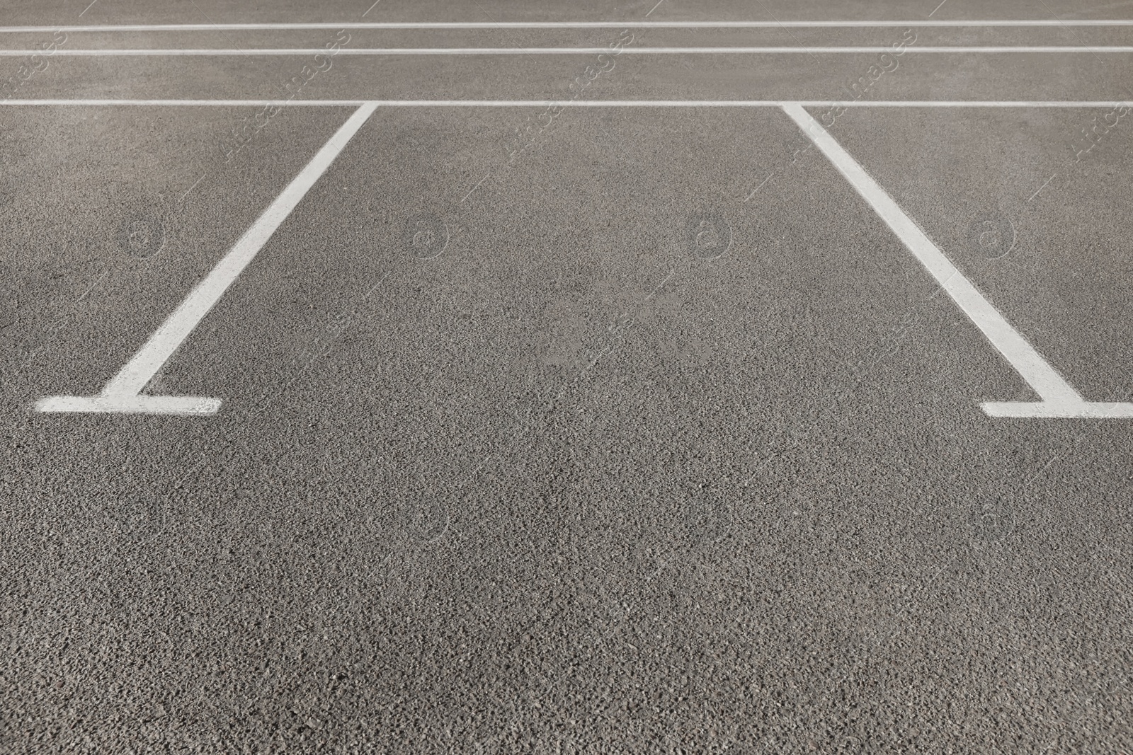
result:
[[(597, 55), (633, 54), (633, 55), (680, 55), (680, 54), (842, 54), (842, 53), (893, 53), (886, 45), (867, 45), (849, 48), (801, 48), (801, 46), (765, 46), (765, 48), (622, 48), (614, 53), (610, 48), (342, 48), (335, 55)], [(905, 53), (1073, 53), (1073, 52), (1133, 52), (1133, 45), (1005, 45), (1005, 46), (910, 46)], [(269, 57), (269, 55), (320, 55), (331, 54), (322, 48), (250, 48), (244, 50), (222, 49), (164, 49), (164, 50), (56, 50), (48, 55), (42, 50), (0, 50), (0, 57), (28, 58), (32, 55), (63, 58), (130, 58), (130, 57)]]

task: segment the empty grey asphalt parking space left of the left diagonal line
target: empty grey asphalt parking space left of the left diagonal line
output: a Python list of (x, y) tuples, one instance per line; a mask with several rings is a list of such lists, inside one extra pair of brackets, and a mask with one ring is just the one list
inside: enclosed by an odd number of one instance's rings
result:
[(9, 400), (97, 392), (342, 119), (281, 112), (238, 141), (257, 110), (8, 112)]

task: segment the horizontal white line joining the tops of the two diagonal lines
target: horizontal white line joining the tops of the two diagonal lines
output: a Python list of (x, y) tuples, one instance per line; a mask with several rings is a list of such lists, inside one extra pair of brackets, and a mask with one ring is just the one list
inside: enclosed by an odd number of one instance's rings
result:
[(24, 106), (182, 108), (1133, 108), (1133, 100), (0, 100)]

